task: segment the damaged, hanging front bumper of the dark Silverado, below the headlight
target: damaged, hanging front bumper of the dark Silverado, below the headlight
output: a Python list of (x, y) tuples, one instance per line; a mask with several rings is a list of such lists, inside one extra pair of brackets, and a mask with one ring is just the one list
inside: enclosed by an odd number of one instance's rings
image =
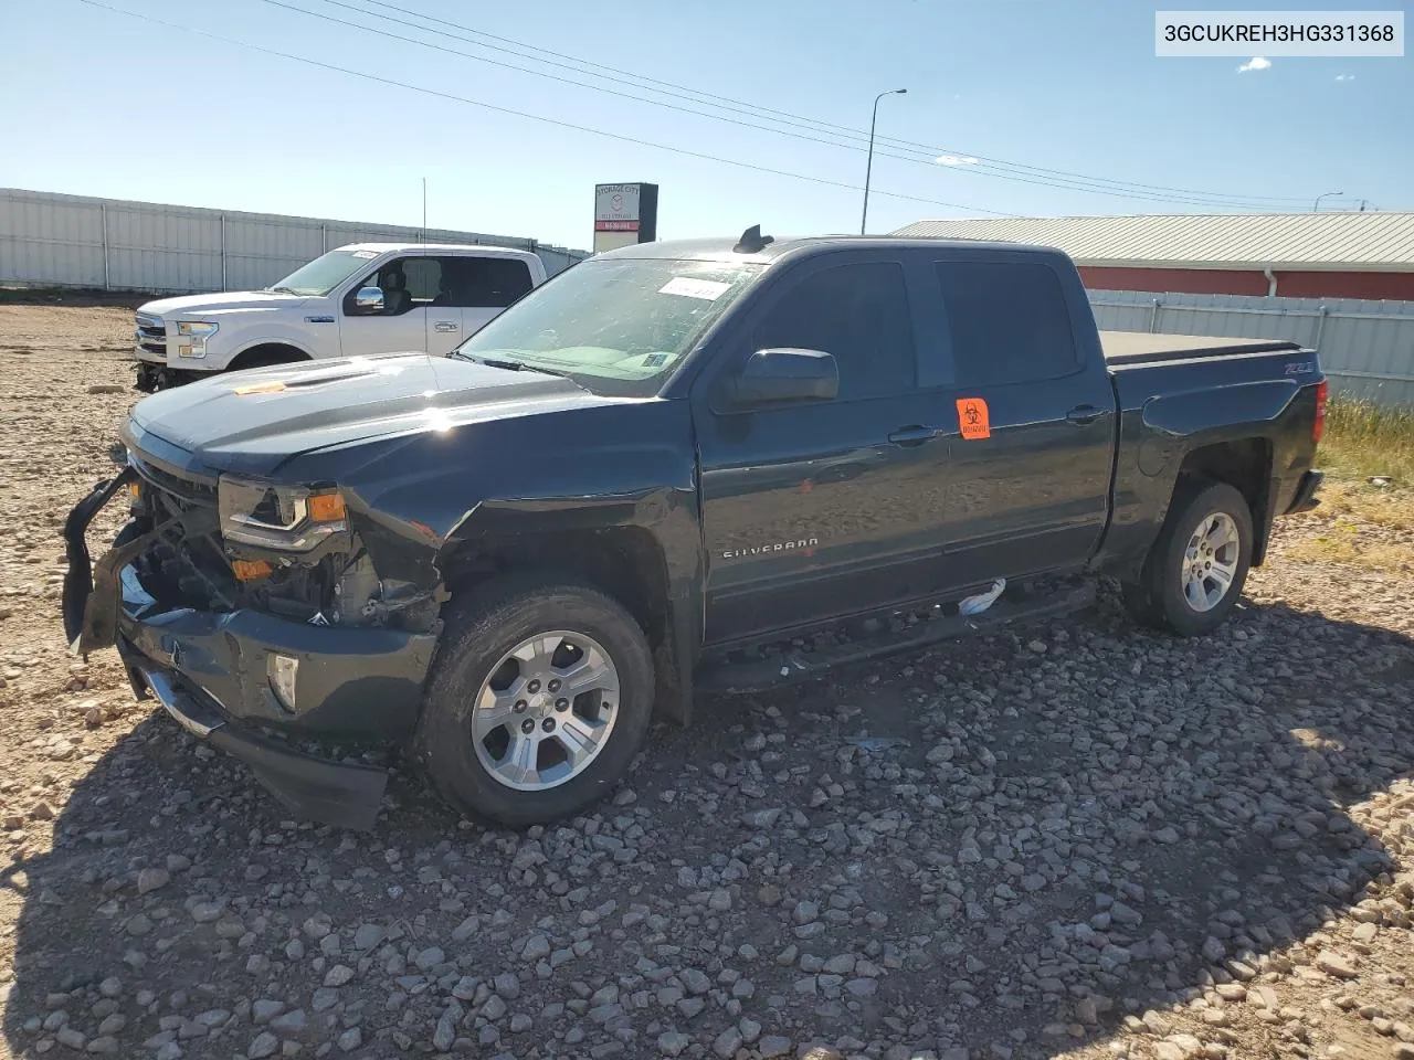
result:
[(151, 694), (188, 732), (245, 762), (297, 815), (370, 828), (386, 772), (287, 746), (262, 732), (396, 742), (411, 734), (436, 637), (315, 626), (255, 609), (170, 608), (141, 585), (133, 560), (150, 536), (90, 563), (85, 530), (132, 471), (71, 512), (64, 534), (65, 632), (88, 653), (116, 644), (139, 698)]

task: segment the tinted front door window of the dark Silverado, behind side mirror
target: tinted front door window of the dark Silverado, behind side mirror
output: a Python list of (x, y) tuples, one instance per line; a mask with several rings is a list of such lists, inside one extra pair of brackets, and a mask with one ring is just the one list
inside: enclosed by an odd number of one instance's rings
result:
[(833, 355), (839, 401), (912, 390), (918, 370), (904, 267), (868, 261), (806, 276), (768, 311), (754, 345)]

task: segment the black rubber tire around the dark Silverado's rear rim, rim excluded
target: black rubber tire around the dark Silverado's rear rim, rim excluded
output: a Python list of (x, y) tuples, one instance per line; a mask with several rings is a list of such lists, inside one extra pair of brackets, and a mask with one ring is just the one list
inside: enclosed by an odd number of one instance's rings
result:
[[(1237, 531), (1232, 584), (1209, 609), (1196, 608), (1184, 591), (1186, 551), (1195, 533), (1215, 516), (1227, 516)], [(1225, 482), (1189, 479), (1179, 483), (1164, 529), (1150, 548), (1138, 581), (1126, 582), (1124, 605), (1145, 626), (1179, 636), (1208, 636), (1217, 629), (1241, 598), (1251, 567), (1251, 509), (1247, 499)]]

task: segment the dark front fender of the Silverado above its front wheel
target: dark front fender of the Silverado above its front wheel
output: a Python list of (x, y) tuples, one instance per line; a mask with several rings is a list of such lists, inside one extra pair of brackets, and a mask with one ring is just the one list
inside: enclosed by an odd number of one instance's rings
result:
[(354, 454), (337, 451), (311, 454), (300, 466), (308, 481), (345, 486), (379, 577), (454, 588), (471, 571), (566, 570), (570, 553), (577, 565), (566, 572), (602, 575), (624, 567), (609, 563), (607, 550), (648, 543), (662, 578), (648, 601), (655, 613), (639, 619), (656, 630), (656, 653), (666, 653), (659, 671), (676, 684), (660, 702), (687, 717), (703, 639), (704, 560), (686, 403), (508, 417), (369, 448), (355, 447), (363, 451), (355, 469), (339, 466)]

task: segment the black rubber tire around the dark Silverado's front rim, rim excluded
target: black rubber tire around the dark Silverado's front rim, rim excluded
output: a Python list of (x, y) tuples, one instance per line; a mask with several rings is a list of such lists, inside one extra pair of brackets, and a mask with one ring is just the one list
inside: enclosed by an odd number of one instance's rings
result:
[[(653, 711), (653, 657), (638, 622), (598, 589), (561, 579), (508, 577), (452, 606), (416, 735), (417, 758), (433, 786), (461, 813), (518, 828), (598, 801), (628, 770)], [(604, 649), (618, 673), (617, 715), (578, 775), (553, 787), (516, 790), (478, 756), (472, 707), (508, 652), (550, 630), (583, 633)]]

